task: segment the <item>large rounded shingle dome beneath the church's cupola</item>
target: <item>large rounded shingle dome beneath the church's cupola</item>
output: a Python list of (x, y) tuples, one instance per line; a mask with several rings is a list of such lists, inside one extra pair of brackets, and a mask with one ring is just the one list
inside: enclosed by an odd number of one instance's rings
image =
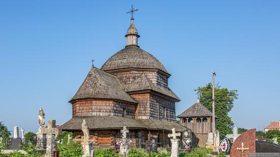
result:
[(101, 70), (108, 71), (126, 68), (158, 69), (169, 74), (156, 57), (136, 46), (127, 46), (111, 56), (102, 66)]

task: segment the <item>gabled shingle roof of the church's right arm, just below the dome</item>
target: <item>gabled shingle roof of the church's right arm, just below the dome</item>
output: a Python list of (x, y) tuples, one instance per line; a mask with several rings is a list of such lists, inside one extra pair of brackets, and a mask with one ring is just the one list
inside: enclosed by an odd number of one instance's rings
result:
[(154, 90), (156, 92), (162, 93), (163, 95), (172, 97), (177, 101), (180, 101), (180, 98), (170, 89), (165, 89), (155, 85), (146, 75), (142, 73), (140, 77), (133, 80), (131, 83), (124, 84), (124, 89), (126, 92), (129, 91), (139, 91), (139, 90)]

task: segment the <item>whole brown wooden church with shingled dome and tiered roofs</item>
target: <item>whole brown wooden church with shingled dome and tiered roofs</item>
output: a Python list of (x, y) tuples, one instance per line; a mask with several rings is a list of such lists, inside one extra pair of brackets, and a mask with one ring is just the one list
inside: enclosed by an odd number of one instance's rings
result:
[(61, 125), (62, 131), (83, 136), (83, 119), (89, 125), (95, 147), (114, 147), (120, 130), (129, 129), (133, 147), (142, 147), (150, 131), (160, 145), (170, 144), (172, 128), (187, 128), (176, 123), (175, 103), (180, 99), (169, 88), (171, 76), (152, 54), (139, 48), (137, 29), (131, 18), (124, 49), (111, 56), (101, 67), (92, 67), (74, 97), (72, 118)]

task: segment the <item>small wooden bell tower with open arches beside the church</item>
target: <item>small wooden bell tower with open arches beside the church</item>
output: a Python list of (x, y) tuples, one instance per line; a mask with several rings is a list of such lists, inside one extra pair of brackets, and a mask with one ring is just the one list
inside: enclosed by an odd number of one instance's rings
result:
[(177, 117), (180, 118), (180, 124), (189, 128), (194, 134), (195, 145), (206, 146), (208, 133), (212, 132), (212, 112), (198, 100)]

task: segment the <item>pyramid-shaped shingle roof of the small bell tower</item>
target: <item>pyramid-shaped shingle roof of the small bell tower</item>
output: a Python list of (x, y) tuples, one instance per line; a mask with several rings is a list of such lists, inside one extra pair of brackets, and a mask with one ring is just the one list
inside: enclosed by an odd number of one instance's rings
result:
[(203, 106), (200, 102), (193, 104), (183, 113), (178, 115), (177, 117), (202, 117), (202, 116), (212, 116), (212, 112), (210, 112), (205, 106)]

